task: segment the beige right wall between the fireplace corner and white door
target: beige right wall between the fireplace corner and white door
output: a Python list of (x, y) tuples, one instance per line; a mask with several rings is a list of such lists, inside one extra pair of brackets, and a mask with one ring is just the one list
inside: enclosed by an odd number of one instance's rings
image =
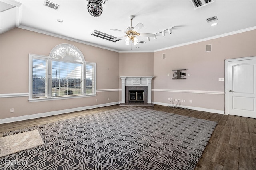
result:
[[(206, 53), (208, 44), (212, 45), (212, 51)], [(163, 53), (166, 53), (166, 59), (162, 59)], [(181, 103), (184, 106), (224, 111), (224, 94), (170, 91), (224, 92), (224, 81), (218, 81), (218, 78), (224, 78), (224, 60), (250, 56), (256, 56), (256, 30), (155, 52), (152, 88), (166, 90), (154, 91), (152, 101), (170, 104), (167, 98), (179, 98), (186, 100)], [(187, 69), (187, 79), (172, 80), (172, 70), (176, 69)]]

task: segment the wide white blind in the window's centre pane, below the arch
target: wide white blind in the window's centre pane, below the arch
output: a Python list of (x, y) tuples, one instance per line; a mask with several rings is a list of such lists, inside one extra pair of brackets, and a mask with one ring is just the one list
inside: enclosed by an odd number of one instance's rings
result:
[(52, 97), (83, 94), (82, 65), (52, 61)]

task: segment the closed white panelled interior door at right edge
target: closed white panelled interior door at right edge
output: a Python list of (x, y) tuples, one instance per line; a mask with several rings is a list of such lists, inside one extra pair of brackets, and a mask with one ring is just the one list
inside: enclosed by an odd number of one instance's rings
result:
[(256, 59), (228, 62), (228, 114), (256, 118)]

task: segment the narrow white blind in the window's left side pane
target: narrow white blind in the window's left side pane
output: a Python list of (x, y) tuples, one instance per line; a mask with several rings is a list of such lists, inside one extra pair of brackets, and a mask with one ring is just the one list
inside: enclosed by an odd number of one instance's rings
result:
[(47, 95), (47, 60), (32, 59), (32, 98), (45, 98)]

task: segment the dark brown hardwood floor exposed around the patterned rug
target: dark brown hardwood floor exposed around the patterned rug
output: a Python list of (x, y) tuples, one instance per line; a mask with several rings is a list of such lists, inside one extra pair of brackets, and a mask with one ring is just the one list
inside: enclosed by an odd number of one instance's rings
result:
[[(2, 124), (0, 125), (0, 137), (2, 137), (3, 133), (6, 131), (98, 113), (118, 107), (126, 106), (106, 106), (62, 115)], [(188, 109), (172, 109), (160, 105), (141, 107), (218, 122), (218, 125), (197, 164), (196, 170), (256, 170), (256, 119)]]

